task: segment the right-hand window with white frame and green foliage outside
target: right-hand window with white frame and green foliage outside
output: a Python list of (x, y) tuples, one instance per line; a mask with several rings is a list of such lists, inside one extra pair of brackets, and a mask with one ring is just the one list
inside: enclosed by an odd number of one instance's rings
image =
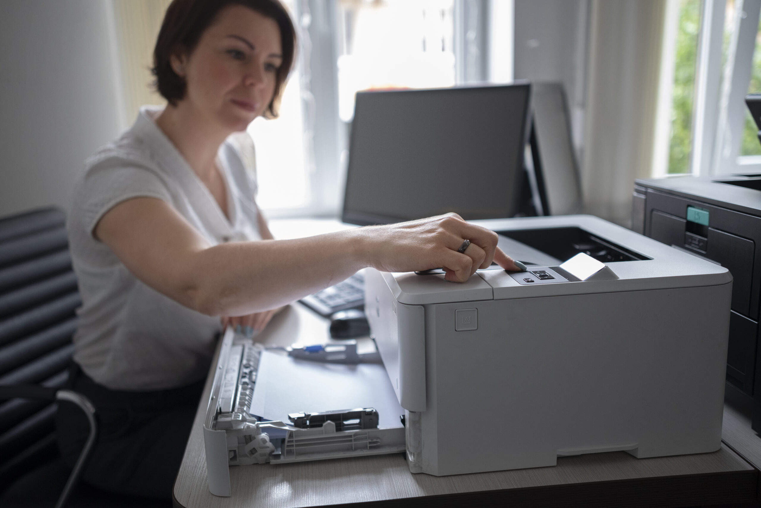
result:
[(761, 171), (761, 144), (744, 102), (747, 93), (761, 92), (761, 2), (667, 0), (669, 8), (678, 10), (672, 19), (667, 14), (662, 61), (672, 65), (673, 51), (670, 144), (665, 170), (654, 156), (654, 176)]

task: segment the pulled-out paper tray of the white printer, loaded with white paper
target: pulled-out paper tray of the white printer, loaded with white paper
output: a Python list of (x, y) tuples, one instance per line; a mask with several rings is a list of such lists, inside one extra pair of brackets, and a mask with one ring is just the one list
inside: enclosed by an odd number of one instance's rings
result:
[[(261, 414), (272, 421), (253, 423), (253, 420), (246, 421), (245, 416), (235, 414), (237, 419), (234, 425), (237, 428), (219, 430), (218, 414), (224, 380), (231, 376), (237, 378), (237, 367), (228, 366), (234, 340), (234, 332), (228, 329), (222, 338), (204, 421), (206, 468), (212, 494), (231, 495), (230, 461), (237, 460), (238, 438), (244, 434), (247, 435), (246, 448), (250, 449), (250, 455), (246, 457), (249, 464), (285, 464), (405, 451), (405, 429), (398, 419), (404, 410), (396, 400), (382, 365), (316, 364), (268, 351), (263, 351), (261, 355), (249, 412)], [(346, 383), (347, 379), (351, 382)], [(345, 388), (343, 392), (342, 387)], [(268, 395), (276, 402), (269, 404), (269, 407)], [(371, 400), (365, 402), (365, 398)], [(357, 402), (359, 399), (363, 400)], [(380, 428), (336, 432), (335, 424), (328, 422), (322, 427), (302, 429), (283, 423), (288, 413), (281, 414), (282, 411), (330, 411), (352, 407), (376, 408)], [(275, 447), (269, 443), (268, 429), (273, 440), (275, 436), (282, 440), (279, 454), (271, 453)]]

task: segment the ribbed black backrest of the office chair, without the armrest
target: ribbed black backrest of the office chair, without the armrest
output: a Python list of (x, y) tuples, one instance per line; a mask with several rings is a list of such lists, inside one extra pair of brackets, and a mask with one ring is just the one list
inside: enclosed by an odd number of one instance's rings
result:
[[(0, 385), (65, 383), (80, 304), (65, 214), (0, 220)], [(47, 402), (0, 403), (0, 490), (58, 456), (55, 413)]]

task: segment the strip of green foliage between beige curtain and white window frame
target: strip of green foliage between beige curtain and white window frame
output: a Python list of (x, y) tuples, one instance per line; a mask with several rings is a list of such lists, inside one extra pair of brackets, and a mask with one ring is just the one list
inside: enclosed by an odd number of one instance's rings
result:
[(700, 0), (681, 0), (679, 11), (677, 55), (673, 71), (669, 173), (689, 173), (689, 153), (693, 134), (693, 96), (700, 31)]

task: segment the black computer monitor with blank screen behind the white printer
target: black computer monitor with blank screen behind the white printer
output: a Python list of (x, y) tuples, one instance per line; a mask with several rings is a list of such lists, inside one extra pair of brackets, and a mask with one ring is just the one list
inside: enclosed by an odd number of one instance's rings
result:
[(530, 84), (359, 92), (342, 220), (512, 217)]

